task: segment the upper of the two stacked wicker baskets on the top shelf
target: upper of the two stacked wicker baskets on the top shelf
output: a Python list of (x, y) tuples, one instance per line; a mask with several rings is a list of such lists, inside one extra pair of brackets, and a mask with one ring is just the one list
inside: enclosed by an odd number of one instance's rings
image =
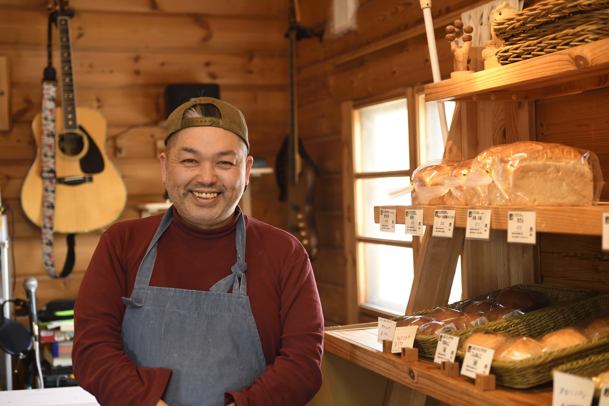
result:
[(507, 18), (494, 21), (493, 29), (497, 37), (509, 38), (570, 14), (602, 9), (609, 9), (609, 0), (542, 1)]

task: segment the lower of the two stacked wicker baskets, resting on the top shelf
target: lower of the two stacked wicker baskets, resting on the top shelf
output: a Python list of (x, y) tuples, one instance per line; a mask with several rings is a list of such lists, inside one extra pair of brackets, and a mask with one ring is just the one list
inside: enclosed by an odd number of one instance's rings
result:
[(593, 10), (513, 35), (496, 55), (501, 65), (507, 65), (605, 38), (609, 38), (609, 9)]

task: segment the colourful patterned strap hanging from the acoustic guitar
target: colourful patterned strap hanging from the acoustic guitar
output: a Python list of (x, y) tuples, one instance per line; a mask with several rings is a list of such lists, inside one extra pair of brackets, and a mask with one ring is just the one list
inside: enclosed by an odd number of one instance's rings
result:
[(57, 107), (57, 80), (52, 66), (51, 32), (56, 13), (49, 16), (47, 55), (48, 65), (44, 68), (42, 82), (42, 259), (44, 270), (51, 278), (66, 278), (74, 268), (74, 234), (68, 234), (68, 256), (61, 275), (55, 270), (53, 254), (53, 228), (55, 222), (55, 107)]

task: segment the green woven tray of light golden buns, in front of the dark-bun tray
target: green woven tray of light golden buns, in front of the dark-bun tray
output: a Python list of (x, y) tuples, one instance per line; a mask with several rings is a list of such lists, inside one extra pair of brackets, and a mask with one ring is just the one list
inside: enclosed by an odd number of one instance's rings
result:
[[(530, 312), (501, 320), (513, 321), (515, 324), (519, 324), (516, 326), (491, 326), (491, 323), (487, 323), (481, 327), (497, 332), (513, 332), (515, 335), (538, 337), (546, 332), (577, 323), (577, 321), (585, 319), (600, 309), (609, 309), (609, 295), (594, 296), (582, 301), (558, 304), (542, 309), (546, 310), (546, 312), (538, 310), (537, 312)], [(527, 330), (529, 332), (524, 332)], [(464, 338), (461, 337), (459, 340), (457, 357), (460, 359), (463, 359), (465, 355), (465, 352), (460, 349)], [(609, 351), (609, 337), (601, 337), (558, 351), (547, 352), (526, 360), (493, 361), (491, 373), (495, 374), (497, 383), (500, 385), (517, 389), (532, 388), (541, 385), (541, 383), (550, 382), (552, 380), (552, 368), (556, 368), (566, 362), (607, 351)]]

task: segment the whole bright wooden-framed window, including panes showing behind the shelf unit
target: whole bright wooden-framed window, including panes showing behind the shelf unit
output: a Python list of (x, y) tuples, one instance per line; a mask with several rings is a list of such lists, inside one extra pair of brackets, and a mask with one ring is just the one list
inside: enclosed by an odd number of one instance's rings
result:
[[(417, 89), (402, 90), (400, 97), (376, 103), (353, 103), (357, 302), (368, 314), (404, 314), (420, 238), (406, 234), (405, 226), (400, 224), (396, 225), (395, 234), (381, 233), (372, 208), (410, 205), (410, 195), (389, 200), (385, 191), (407, 186), (420, 163), (442, 158), (444, 152), (437, 105), (425, 103), (424, 95), (415, 93)], [(449, 125), (454, 106), (446, 103)], [(460, 295), (460, 265), (457, 265), (450, 302), (458, 301)]]

